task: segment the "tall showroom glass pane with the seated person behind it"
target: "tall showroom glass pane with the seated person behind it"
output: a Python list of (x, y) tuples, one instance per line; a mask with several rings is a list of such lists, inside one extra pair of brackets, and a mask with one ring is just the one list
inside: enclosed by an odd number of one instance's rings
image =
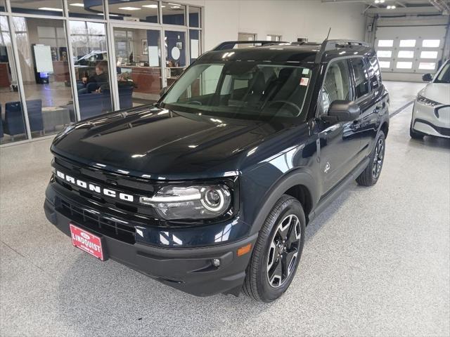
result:
[(113, 111), (105, 24), (71, 20), (70, 41), (80, 118)]

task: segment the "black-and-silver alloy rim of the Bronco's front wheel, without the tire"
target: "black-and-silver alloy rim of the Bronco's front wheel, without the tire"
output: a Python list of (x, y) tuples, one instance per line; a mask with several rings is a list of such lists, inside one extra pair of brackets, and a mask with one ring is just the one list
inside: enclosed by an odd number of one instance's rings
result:
[(282, 286), (295, 269), (301, 237), (300, 220), (294, 214), (278, 223), (267, 256), (267, 279), (272, 287)]

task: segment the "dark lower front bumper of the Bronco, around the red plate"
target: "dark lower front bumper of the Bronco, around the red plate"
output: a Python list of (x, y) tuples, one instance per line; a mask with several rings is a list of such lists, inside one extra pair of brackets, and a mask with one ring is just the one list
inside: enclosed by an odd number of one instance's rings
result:
[[(51, 185), (49, 189), (52, 189)], [(246, 244), (252, 244), (253, 248), (257, 239), (257, 234), (254, 234), (237, 242), (216, 246), (161, 248), (139, 242), (123, 242), (85, 227), (60, 213), (48, 197), (44, 202), (44, 211), (47, 219), (69, 237), (69, 223), (74, 223), (103, 237), (104, 249), (109, 258), (195, 296), (210, 296), (214, 293), (233, 293), (237, 296), (251, 256), (251, 251), (237, 256), (237, 250)], [(212, 265), (213, 258), (220, 260), (219, 267)]]

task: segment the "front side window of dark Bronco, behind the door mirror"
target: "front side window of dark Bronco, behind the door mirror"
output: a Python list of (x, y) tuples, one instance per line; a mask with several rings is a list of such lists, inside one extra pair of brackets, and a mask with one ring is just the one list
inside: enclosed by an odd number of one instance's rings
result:
[(350, 97), (350, 81), (347, 60), (330, 63), (326, 71), (325, 81), (319, 100), (319, 115), (328, 114), (328, 108), (334, 100), (348, 100)]

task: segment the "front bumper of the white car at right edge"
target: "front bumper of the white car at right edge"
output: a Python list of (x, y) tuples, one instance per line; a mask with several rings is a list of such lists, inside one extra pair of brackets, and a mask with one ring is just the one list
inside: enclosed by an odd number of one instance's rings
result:
[(433, 107), (416, 100), (413, 106), (411, 128), (430, 136), (450, 138), (450, 106)]

